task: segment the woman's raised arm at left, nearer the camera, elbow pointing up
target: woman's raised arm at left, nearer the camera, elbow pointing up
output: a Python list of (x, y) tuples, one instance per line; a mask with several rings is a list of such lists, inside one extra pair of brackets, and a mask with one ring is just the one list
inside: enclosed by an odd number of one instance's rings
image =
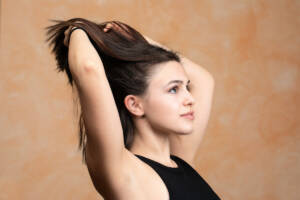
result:
[(70, 36), (68, 60), (87, 130), (86, 162), (103, 194), (109, 180), (121, 178), (126, 151), (121, 121), (101, 58), (81, 29)]

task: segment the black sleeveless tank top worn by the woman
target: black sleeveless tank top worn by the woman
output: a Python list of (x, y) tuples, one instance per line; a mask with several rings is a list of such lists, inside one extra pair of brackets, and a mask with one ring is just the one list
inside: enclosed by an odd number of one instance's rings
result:
[(220, 200), (198, 172), (183, 159), (170, 155), (178, 166), (173, 168), (144, 156), (134, 155), (158, 173), (168, 188), (170, 200)]

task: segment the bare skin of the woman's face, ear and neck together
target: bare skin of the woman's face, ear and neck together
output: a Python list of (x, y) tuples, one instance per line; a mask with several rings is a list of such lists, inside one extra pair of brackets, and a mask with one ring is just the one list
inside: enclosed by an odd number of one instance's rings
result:
[[(182, 80), (183, 84), (168, 85), (172, 80)], [(188, 135), (193, 131), (193, 120), (181, 116), (191, 111), (195, 103), (188, 80), (182, 65), (169, 61), (156, 66), (145, 96), (125, 98), (124, 103), (134, 116), (136, 126), (132, 153), (176, 167), (170, 159), (169, 136)]]

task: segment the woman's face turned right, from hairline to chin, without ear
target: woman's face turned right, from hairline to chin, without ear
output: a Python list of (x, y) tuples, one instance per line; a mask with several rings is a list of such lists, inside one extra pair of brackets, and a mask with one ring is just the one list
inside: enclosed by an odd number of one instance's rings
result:
[(193, 111), (194, 98), (180, 63), (169, 61), (156, 67), (143, 105), (146, 119), (153, 129), (167, 134), (191, 133), (194, 120), (181, 115)]

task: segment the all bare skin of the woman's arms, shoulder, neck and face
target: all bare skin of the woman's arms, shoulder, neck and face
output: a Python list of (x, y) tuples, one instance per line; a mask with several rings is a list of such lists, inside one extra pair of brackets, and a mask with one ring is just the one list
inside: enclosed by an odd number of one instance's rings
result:
[[(65, 32), (66, 37), (71, 28)], [(193, 158), (210, 113), (214, 86), (211, 75), (184, 57), (180, 64), (170, 61), (158, 65), (146, 95), (128, 95), (124, 99), (137, 126), (134, 145), (128, 151), (121, 147), (122, 127), (117, 124), (116, 114), (111, 114), (117, 113), (117, 108), (104, 69), (99, 67), (102, 63), (96, 50), (80, 29), (74, 31), (71, 38), (69, 65), (82, 108), (88, 113), (84, 116), (90, 130), (86, 161), (95, 188), (105, 199), (169, 199), (162, 179), (133, 153), (177, 167), (169, 157), (173, 154), (195, 167)], [(174, 79), (182, 80), (183, 85), (163, 88)], [(190, 91), (186, 88), (188, 80)], [(98, 91), (106, 92), (100, 94)], [(195, 112), (194, 120), (180, 117), (190, 109)], [(106, 123), (99, 126), (99, 121)]]

